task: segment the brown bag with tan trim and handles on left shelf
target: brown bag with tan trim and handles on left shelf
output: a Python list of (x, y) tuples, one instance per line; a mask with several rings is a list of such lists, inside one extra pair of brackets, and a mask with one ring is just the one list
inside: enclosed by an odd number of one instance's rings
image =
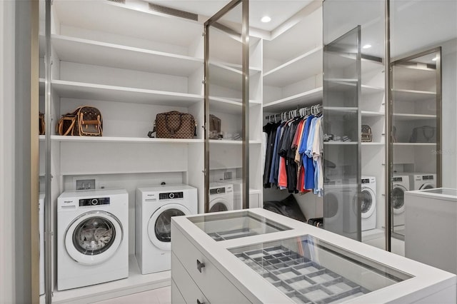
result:
[(102, 136), (101, 113), (93, 106), (80, 106), (75, 111), (62, 115), (56, 125), (56, 133), (63, 136)]

